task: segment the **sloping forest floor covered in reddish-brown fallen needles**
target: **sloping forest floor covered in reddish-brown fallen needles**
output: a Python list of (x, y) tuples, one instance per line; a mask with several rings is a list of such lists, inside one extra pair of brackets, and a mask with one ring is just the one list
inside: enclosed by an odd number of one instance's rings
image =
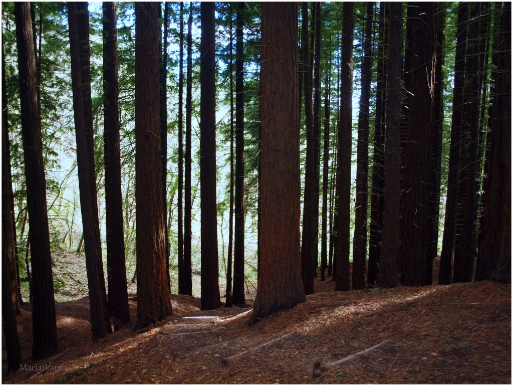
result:
[[(250, 305), (200, 311), (198, 298), (171, 295), (172, 317), (143, 331), (121, 330), (96, 343), (91, 342), (88, 299), (59, 302), (59, 352), (34, 363), (30, 362), (30, 307), (22, 305), (17, 321), (23, 358), (28, 365), (42, 367), (12, 375), (3, 372), (2, 379), (4, 383), (511, 383), (511, 285), (483, 281), (334, 292), (331, 280), (315, 284), (316, 293), (306, 302), (251, 327)], [(131, 295), (132, 320), (135, 309)], [(279, 337), (283, 338), (260, 346)], [(379, 348), (312, 377), (315, 362), (336, 361), (386, 339)], [(245, 353), (253, 348), (257, 349)], [(5, 371), (5, 350), (2, 358)], [(227, 365), (221, 365), (222, 359)]]

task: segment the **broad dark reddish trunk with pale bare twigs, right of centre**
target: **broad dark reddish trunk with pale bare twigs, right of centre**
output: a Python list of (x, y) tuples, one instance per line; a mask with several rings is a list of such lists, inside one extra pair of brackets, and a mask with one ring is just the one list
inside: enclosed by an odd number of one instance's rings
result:
[[(399, 272), (404, 285), (425, 285), (427, 237), (429, 232), (429, 181), (433, 58), (436, 50), (436, 3), (416, 3), (412, 28), (412, 71), (409, 98), (408, 142), (404, 176), (403, 222), (399, 247)], [(387, 151), (388, 152), (388, 151)], [(386, 190), (386, 189), (385, 189)]]

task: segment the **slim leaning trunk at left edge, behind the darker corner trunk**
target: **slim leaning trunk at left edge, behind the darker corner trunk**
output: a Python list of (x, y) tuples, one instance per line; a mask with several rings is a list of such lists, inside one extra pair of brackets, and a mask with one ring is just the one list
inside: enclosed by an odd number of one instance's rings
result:
[[(18, 298), (18, 253), (16, 245), (16, 226), (14, 222), (14, 197), (12, 194), (11, 149), (7, 119), (7, 91), (4, 56), (4, 35), (2, 34), (2, 245), (7, 254), (7, 268), (11, 292), (11, 304), (15, 315), (20, 315)], [(4, 253), (4, 252), (2, 252)]]

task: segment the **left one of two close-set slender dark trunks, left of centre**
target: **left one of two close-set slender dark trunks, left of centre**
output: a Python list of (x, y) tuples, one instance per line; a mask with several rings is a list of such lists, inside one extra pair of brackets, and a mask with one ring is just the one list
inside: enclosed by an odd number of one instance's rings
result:
[[(168, 3), (166, 3), (166, 9)], [(167, 13), (166, 13), (167, 15)], [(167, 32), (167, 23), (164, 30)], [(164, 34), (164, 42), (167, 44), (167, 34)], [(167, 46), (166, 46), (167, 47)], [(184, 3), (180, 3), (180, 54), (178, 75), (178, 293), (184, 292), (184, 208), (183, 208), (183, 184), (184, 184)], [(167, 60), (167, 50), (164, 51)], [(164, 62), (167, 63), (167, 62)], [(167, 237), (166, 237), (167, 240)], [(166, 249), (167, 252), (167, 249)], [(167, 260), (166, 260), (167, 261)], [(168, 263), (169, 266), (169, 263)]]

